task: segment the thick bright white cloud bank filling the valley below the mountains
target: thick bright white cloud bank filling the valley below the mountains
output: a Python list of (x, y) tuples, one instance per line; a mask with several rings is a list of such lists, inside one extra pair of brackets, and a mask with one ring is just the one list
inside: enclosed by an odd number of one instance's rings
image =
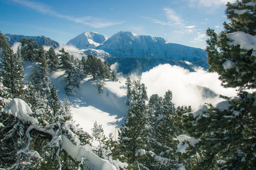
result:
[(235, 89), (221, 87), (221, 81), (218, 77), (217, 73), (208, 73), (202, 69), (189, 72), (179, 66), (164, 64), (143, 73), (141, 75), (141, 82), (145, 83), (147, 87), (148, 97), (152, 94), (164, 97), (165, 92), (171, 90), (175, 106), (191, 105), (195, 109), (200, 104), (216, 104), (222, 101), (219, 97), (203, 97), (202, 90), (198, 89), (198, 86), (207, 87), (216, 94), (228, 97), (236, 96)]

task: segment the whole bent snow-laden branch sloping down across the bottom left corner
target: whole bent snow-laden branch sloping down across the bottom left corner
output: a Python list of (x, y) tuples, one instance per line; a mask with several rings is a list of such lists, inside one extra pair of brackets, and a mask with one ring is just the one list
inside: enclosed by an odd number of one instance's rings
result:
[[(38, 121), (32, 117), (32, 111), (29, 108), (28, 104), (22, 101), (22, 99), (13, 99), (10, 104), (5, 108), (7, 113), (12, 114), (13, 117), (17, 117), (21, 122), (26, 124), (31, 124), (28, 129), (26, 129), (26, 137), (31, 141), (30, 132), (36, 131), (39, 134), (42, 134), (46, 138), (51, 139), (50, 143), (61, 143), (61, 150), (65, 150), (70, 157), (72, 157), (77, 162), (84, 162), (87, 167), (94, 170), (115, 170), (108, 160), (100, 159), (93, 151), (90, 145), (77, 146), (70, 139), (67, 138), (64, 134), (59, 134), (53, 129), (45, 129), (40, 127)], [(61, 140), (61, 141), (60, 141)], [(35, 155), (37, 152), (29, 150), (29, 141), (28, 145), (24, 151), (29, 151), (30, 155), (33, 157), (41, 158), (40, 155)], [(33, 154), (32, 154), (33, 153)]]

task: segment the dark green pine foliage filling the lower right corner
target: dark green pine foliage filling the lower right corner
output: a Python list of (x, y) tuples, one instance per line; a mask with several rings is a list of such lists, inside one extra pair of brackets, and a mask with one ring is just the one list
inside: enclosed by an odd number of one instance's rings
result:
[[(193, 118), (186, 115), (189, 135), (200, 138), (196, 152), (200, 158), (193, 159), (195, 169), (253, 169), (255, 157), (255, 93), (243, 92), (228, 101), (225, 110), (211, 106), (203, 115)], [(253, 104), (254, 103), (254, 104)], [(199, 149), (200, 148), (200, 149)]]

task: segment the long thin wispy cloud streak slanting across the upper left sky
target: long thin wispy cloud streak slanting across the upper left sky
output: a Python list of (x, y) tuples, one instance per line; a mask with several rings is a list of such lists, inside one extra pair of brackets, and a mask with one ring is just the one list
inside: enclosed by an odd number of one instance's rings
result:
[(72, 22), (88, 25), (90, 27), (95, 27), (95, 28), (108, 27), (111, 25), (118, 25), (118, 24), (124, 23), (124, 22), (108, 21), (103, 18), (97, 18), (97, 17), (91, 17), (91, 16), (77, 18), (77, 17), (68, 16), (68, 15), (61, 15), (60, 13), (57, 13), (56, 11), (51, 10), (51, 8), (45, 4), (36, 3), (28, 0), (11, 0), (11, 1), (15, 4), (20, 4), (22, 6), (26, 6), (27, 8), (31, 8), (32, 10), (36, 10), (40, 13), (44, 13), (44, 14), (51, 15), (58, 18), (63, 18), (65, 20), (70, 20)]

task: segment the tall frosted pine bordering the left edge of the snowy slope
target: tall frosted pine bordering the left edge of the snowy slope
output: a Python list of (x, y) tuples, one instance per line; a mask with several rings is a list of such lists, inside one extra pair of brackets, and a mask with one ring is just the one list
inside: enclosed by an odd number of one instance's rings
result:
[(29, 81), (33, 84), (36, 92), (40, 92), (41, 96), (47, 97), (50, 94), (50, 79), (43, 46), (40, 46), (38, 53), (38, 64), (35, 65), (32, 73), (29, 75)]

